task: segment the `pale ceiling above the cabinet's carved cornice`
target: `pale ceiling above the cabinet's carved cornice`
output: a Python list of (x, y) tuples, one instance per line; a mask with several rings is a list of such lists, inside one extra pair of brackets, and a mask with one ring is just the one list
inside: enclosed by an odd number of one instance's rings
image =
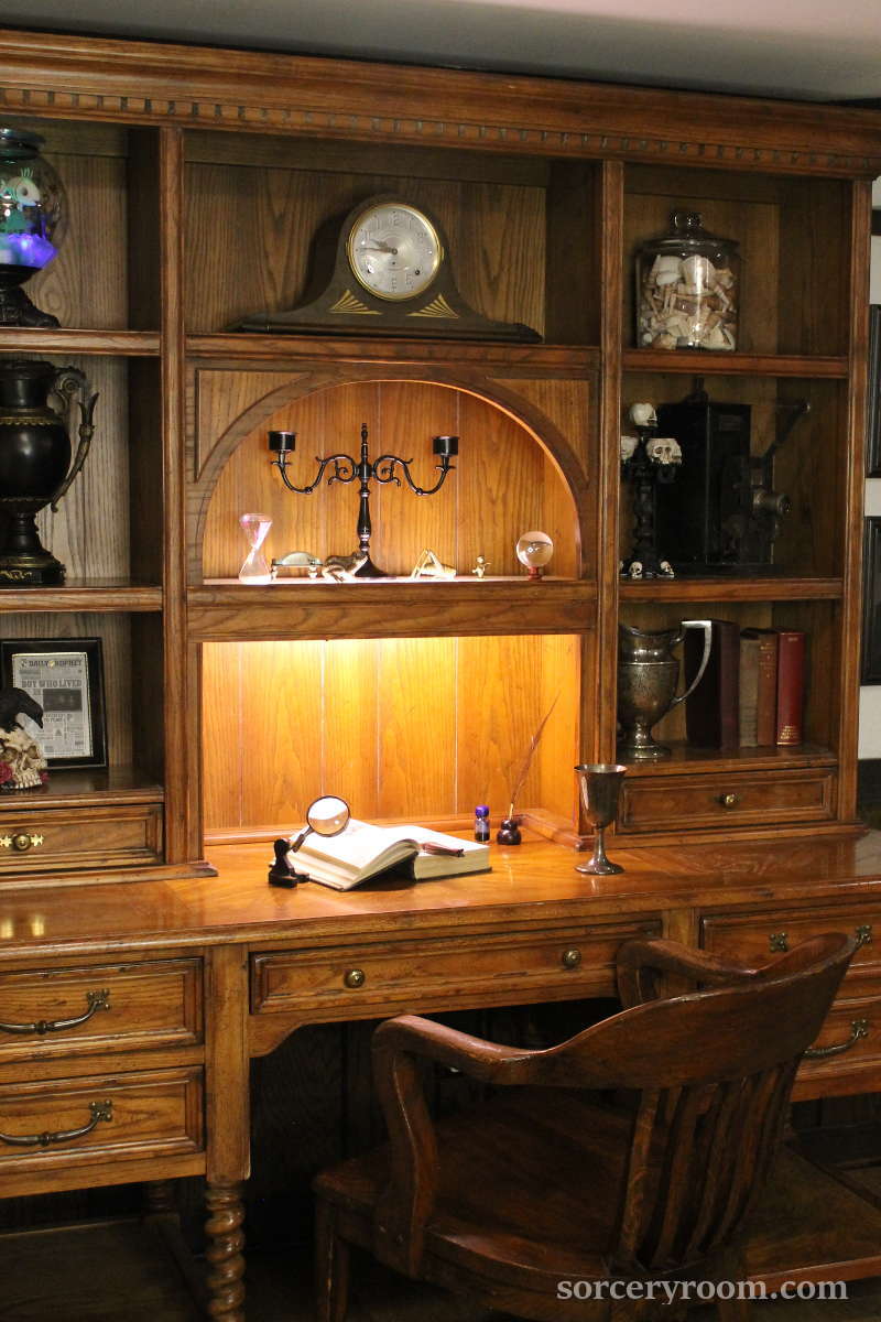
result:
[(881, 0), (4, 0), (1, 21), (810, 100), (881, 98)]

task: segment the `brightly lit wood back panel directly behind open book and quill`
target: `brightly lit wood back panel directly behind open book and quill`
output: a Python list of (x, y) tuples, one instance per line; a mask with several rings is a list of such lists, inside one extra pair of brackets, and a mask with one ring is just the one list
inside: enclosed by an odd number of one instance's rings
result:
[[(540, 588), (538, 588), (540, 591)], [(357, 817), (507, 809), (556, 698), (519, 806), (571, 820), (577, 637), (384, 639), (203, 646), (205, 821), (291, 830), (312, 798)]]

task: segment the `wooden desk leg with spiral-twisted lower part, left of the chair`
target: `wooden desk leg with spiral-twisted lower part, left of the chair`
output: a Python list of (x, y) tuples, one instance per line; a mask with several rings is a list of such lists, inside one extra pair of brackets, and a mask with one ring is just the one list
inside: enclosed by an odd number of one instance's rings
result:
[(243, 1182), (250, 1174), (247, 953), (215, 947), (206, 969), (206, 1311), (244, 1322)]

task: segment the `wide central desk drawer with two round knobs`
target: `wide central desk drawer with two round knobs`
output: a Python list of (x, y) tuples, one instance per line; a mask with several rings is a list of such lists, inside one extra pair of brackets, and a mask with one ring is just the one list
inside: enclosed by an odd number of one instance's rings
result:
[(571, 925), (510, 936), (388, 941), (251, 957), (255, 1014), (369, 1017), (407, 1007), (523, 1003), (567, 994), (614, 994), (614, 957), (633, 936), (659, 936), (659, 921)]

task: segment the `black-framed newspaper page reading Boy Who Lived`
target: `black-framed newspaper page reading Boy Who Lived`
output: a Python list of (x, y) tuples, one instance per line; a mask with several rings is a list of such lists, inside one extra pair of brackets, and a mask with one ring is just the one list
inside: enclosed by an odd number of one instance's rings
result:
[(104, 668), (100, 639), (3, 639), (5, 687), (42, 707), (42, 730), (21, 717), (49, 767), (106, 767)]

